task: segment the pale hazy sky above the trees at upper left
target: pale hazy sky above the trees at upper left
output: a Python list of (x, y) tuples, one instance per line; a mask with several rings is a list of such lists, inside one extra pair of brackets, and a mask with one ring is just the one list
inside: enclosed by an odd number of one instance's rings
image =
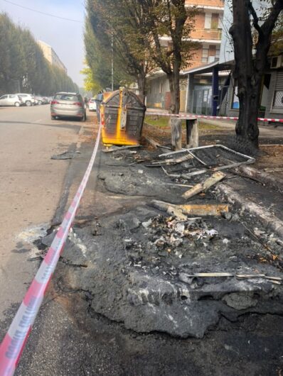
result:
[[(11, 3), (77, 20), (80, 23), (45, 16)], [(85, 55), (83, 44), (84, 0), (9, 0), (9, 2), (0, 0), (0, 11), (9, 13), (14, 22), (29, 28), (36, 40), (43, 40), (51, 45), (67, 67), (69, 76), (76, 84), (82, 86), (83, 77), (80, 70)]]

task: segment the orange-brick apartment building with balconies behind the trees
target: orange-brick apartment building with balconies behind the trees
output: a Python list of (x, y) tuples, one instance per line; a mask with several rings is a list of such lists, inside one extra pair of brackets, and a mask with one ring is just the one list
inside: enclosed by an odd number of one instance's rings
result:
[[(188, 62), (187, 69), (193, 69), (218, 61), (223, 29), (224, 0), (186, 0), (186, 6), (196, 6), (199, 10), (196, 15), (195, 30), (191, 33), (191, 40), (198, 43), (193, 59)], [(164, 46), (169, 45), (169, 37), (161, 37)], [(211, 74), (210, 74), (211, 76)], [(181, 72), (181, 111), (185, 111), (187, 102), (188, 80), (186, 70)], [(208, 84), (211, 77), (196, 77), (196, 84)], [(164, 72), (155, 72), (148, 79), (148, 94), (146, 105), (151, 108), (169, 109), (171, 93), (169, 81)]]

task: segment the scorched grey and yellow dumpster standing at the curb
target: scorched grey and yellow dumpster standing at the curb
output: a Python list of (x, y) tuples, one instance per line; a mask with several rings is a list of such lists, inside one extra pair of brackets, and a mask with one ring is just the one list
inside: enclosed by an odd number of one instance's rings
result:
[(146, 106), (127, 89), (103, 94), (100, 105), (102, 142), (113, 145), (139, 145)]

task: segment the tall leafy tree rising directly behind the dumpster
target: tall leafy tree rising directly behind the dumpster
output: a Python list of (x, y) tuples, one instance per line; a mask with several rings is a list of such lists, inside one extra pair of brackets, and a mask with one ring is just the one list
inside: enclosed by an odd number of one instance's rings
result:
[[(121, 81), (137, 81), (142, 99), (146, 95), (146, 75), (153, 68), (144, 42), (148, 38), (145, 22), (142, 6), (136, 0), (87, 1), (85, 45), (88, 64), (91, 67), (95, 60), (93, 55), (90, 59), (94, 50), (98, 55), (107, 55), (108, 58), (113, 56)], [(91, 35), (89, 28), (92, 31), (92, 41), (88, 39)], [(117, 74), (117, 70), (114, 72)]]

